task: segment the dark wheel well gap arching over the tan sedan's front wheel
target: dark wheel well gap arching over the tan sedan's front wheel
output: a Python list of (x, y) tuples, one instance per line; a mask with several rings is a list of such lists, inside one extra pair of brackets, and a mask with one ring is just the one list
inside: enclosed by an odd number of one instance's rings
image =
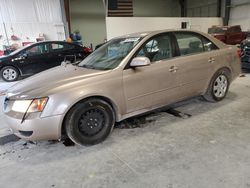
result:
[(67, 111), (67, 113), (65, 114), (65, 116), (64, 116), (64, 118), (63, 118), (62, 128), (61, 128), (61, 135), (66, 135), (66, 130), (65, 130), (65, 127), (66, 127), (65, 118), (66, 118), (67, 114), (69, 113), (69, 111), (70, 111), (75, 105), (77, 105), (78, 103), (84, 102), (84, 101), (86, 101), (86, 100), (88, 100), (88, 99), (101, 99), (101, 100), (107, 102), (107, 103), (112, 107), (112, 109), (113, 109), (113, 111), (114, 111), (114, 113), (115, 113), (115, 120), (117, 120), (117, 116), (118, 116), (118, 114), (117, 114), (117, 112), (118, 112), (118, 111), (117, 111), (117, 106), (115, 105), (115, 103), (114, 103), (112, 100), (110, 100), (109, 98), (104, 97), (104, 96), (91, 96), (91, 97), (87, 97), (87, 98), (84, 98), (84, 99), (78, 101), (77, 103), (75, 103), (75, 104), (74, 104), (73, 106), (71, 106), (71, 108)]

